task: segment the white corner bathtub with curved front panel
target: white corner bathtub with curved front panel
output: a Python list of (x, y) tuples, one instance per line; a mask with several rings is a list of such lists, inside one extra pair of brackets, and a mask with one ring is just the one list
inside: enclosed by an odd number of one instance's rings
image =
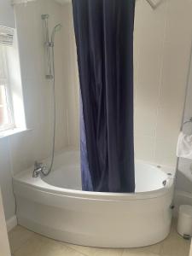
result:
[(90, 247), (143, 247), (162, 241), (172, 221), (173, 168), (136, 160), (136, 192), (81, 190), (79, 152), (57, 154), (48, 177), (14, 177), (20, 225)]

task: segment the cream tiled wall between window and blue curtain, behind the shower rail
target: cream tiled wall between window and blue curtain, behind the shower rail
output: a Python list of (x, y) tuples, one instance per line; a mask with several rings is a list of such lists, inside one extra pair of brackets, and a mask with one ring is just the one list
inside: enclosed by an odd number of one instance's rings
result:
[(53, 0), (15, 5), (26, 125), (32, 131), (11, 138), (14, 173), (31, 166), (34, 160), (48, 157), (51, 150), (53, 87), (45, 79), (43, 14), (49, 14), (49, 33), (56, 24), (62, 26), (55, 34), (55, 148), (59, 151), (79, 146), (79, 78), (72, 6), (61, 6)]

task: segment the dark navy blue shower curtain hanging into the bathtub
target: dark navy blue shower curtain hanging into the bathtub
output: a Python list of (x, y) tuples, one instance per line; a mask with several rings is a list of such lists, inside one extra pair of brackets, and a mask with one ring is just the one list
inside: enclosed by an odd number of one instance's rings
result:
[(73, 0), (82, 189), (134, 192), (135, 0)]

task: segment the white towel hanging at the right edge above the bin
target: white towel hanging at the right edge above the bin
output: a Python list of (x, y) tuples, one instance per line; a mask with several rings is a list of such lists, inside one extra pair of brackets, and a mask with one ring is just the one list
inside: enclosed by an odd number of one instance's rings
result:
[(186, 135), (182, 131), (180, 132), (177, 141), (177, 157), (192, 160), (192, 135)]

